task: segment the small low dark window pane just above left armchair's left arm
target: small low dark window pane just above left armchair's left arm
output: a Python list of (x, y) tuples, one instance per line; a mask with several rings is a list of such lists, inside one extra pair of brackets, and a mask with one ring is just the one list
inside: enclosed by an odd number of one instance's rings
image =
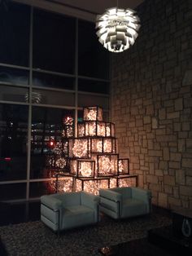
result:
[(29, 197), (40, 197), (55, 192), (55, 186), (52, 181), (30, 183), (29, 188)]

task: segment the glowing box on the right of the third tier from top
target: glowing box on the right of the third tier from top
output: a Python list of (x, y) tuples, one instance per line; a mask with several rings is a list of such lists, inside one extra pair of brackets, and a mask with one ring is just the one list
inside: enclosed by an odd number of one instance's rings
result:
[(114, 138), (91, 138), (91, 153), (116, 153), (116, 139)]

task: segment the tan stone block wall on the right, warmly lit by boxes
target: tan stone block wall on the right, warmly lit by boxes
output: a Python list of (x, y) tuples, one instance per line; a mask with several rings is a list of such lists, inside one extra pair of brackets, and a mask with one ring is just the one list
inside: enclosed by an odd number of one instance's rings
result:
[(146, 0), (135, 44), (112, 54), (111, 119), (153, 204), (192, 209), (192, 1)]

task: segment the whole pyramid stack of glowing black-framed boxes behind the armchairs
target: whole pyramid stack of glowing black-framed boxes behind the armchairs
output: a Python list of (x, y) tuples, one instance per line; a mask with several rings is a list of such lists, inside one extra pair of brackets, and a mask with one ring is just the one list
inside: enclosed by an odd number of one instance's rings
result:
[(115, 125), (103, 121), (102, 108), (84, 108), (83, 121), (77, 124), (77, 138), (69, 131), (70, 135), (67, 130), (64, 136), (68, 138), (68, 171), (63, 174), (64, 183), (57, 176), (57, 191), (97, 194), (99, 188), (137, 186), (137, 175), (129, 175), (129, 158), (119, 158)]

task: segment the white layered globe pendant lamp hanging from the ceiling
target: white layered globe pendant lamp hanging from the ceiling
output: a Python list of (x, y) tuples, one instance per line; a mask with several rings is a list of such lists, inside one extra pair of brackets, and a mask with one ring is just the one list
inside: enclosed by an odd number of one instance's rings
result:
[(113, 7), (107, 9), (103, 15), (97, 15), (96, 29), (98, 41), (112, 52), (129, 49), (138, 36), (140, 20), (136, 11)]

